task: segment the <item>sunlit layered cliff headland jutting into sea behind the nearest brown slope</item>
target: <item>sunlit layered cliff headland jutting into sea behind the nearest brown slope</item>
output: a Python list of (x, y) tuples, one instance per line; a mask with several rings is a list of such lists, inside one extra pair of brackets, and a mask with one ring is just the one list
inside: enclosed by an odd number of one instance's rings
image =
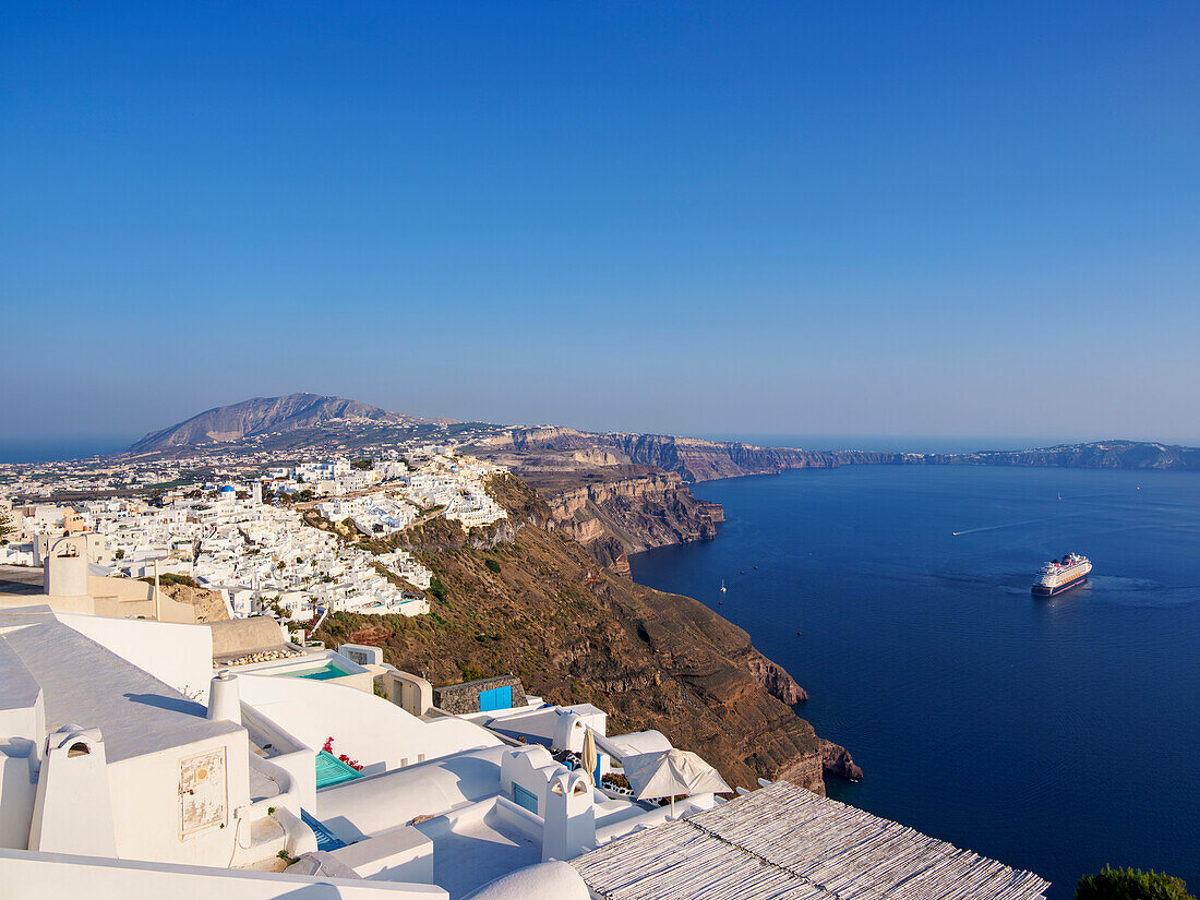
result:
[(649, 547), (709, 540), (725, 521), (719, 503), (697, 499), (673, 472), (628, 466), (582, 470), (575, 485), (576, 478), (556, 475), (524, 478), (539, 490), (558, 527), (605, 565)]

